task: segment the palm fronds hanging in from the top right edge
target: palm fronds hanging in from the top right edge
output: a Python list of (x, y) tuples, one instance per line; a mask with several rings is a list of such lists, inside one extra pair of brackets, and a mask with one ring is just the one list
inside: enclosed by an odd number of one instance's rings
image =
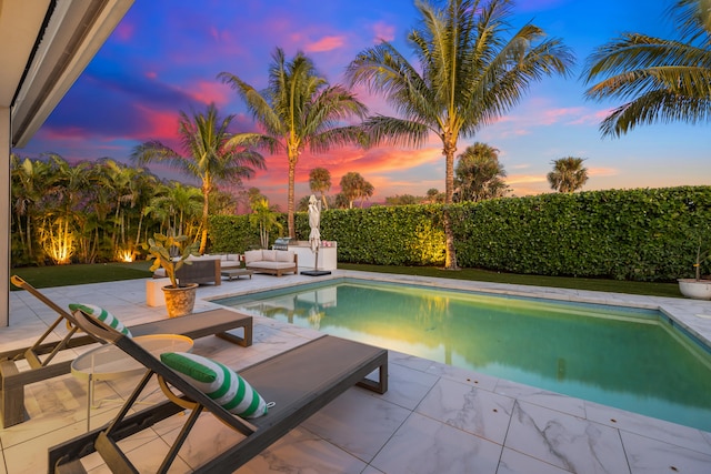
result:
[(711, 120), (711, 2), (677, 0), (671, 11), (680, 39), (624, 33), (588, 58), (590, 99), (624, 103), (600, 124), (602, 135), (620, 137), (638, 125)]

